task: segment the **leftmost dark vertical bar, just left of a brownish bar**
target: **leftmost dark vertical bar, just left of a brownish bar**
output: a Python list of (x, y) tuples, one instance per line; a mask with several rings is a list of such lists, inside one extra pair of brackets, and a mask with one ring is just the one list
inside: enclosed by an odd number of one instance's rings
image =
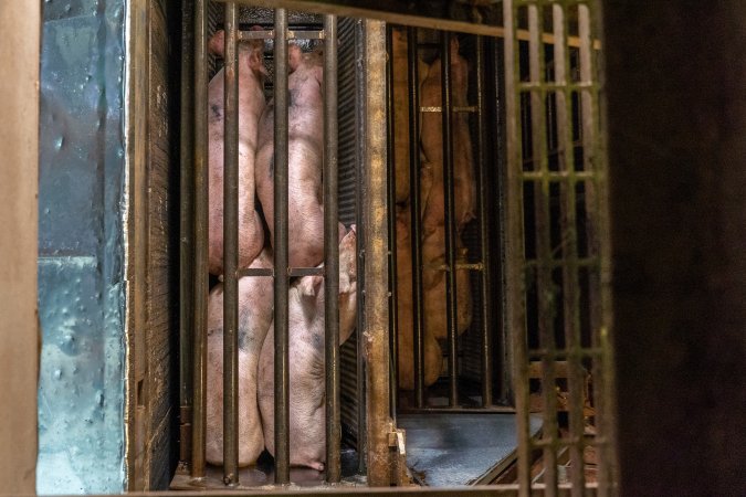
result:
[(179, 461), (191, 458), (192, 308), (195, 243), (195, 24), (193, 4), (186, 0), (181, 18), (180, 236), (179, 236)]

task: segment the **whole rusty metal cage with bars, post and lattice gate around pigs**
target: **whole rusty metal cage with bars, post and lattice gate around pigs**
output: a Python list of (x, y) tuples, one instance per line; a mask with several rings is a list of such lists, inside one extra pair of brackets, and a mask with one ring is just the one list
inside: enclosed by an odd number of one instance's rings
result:
[[(187, 2), (189, 3), (189, 2)], [(397, 226), (393, 215), (397, 160), (392, 148), (392, 70), (387, 68), (391, 31), (380, 21), (340, 18), (356, 12), (334, 2), (312, 2), (323, 14), (321, 31), (292, 28), (287, 11), (273, 13), (264, 31), (240, 29), (241, 2), (195, 0), (193, 18), (185, 14), (181, 94), (181, 329), (180, 329), (180, 475), (182, 488), (239, 486), (238, 470), (238, 278), (274, 277), (275, 432), (274, 483), (291, 482), (287, 398), (287, 292), (292, 276), (323, 274), (325, 290), (338, 290), (337, 219), (356, 221), (358, 237), (358, 321), (356, 340), (339, 348), (337, 302), (326, 299), (326, 433), (325, 483), (343, 479), (342, 441), (357, 451), (353, 473), (370, 486), (402, 484), (403, 434), (397, 431), (400, 412), (515, 412), (517, 419), (518, 487), (494, 487), (528, 495), (532, 489), (556, 495), (586, 488), (614, 493), (609, 242), (606, 162), (599, 112), (599, 33), (595, 1), (511, 1), (502, 9), (502, 27), (480, 27), (469, 35), (474, 65), (471, 105), (452, 102), (449, 71), (441, 72), (442, 99), (423, 108), (418, 85), (407, 99), (412, 144), (423, 113), (440, 116), (443, 154), (444, 263), (446, 309), (446, 405), (428, 403), (423, 381), (422, 261), (420, 246), (420, 155), (409, 149), (411, 177), (412, 353), (413, 398), (399, 396), (397, 321)], [(269, 2), (251, 2), (263, 3)], [(280, 2), (297, 7), (298, 2)], [(206, 320), (207, 271), (207, 86), (210, 59), (208, 32), (214, 28), (214, 8), (224, 4), (225, 36), (225, 215), (224, 261), (224, 466), (222, 483), (206, 479)], [(191, 11), (190, 11), (191, 12)], [(390, 15), (381, 11), (382, 19)], [(408, 76), (418, 75), (418, 30), (439, 27), (431, 20), (404, 17), (409, 40)], [(445, 23), (448, 24), (448, 23)], [(466, 24), (459, 24), (469, 31)], [(238, 209), (238, 82), (237, 43), (242, 38), (273, 40), (275, 96), (274, 268), (237, 266)], [(316, 268), (288, 266), (287, 256), (287, 40), (319, 38), (324, 43), (325, 264)], [(450, 67), (451, 40), (440, 32), (437, 49)], [(342, 40), (345, 40), (343, 43)], [(387, 43), (388, 41), (388, 43)], [(501, 45), (504, 52), (501, 52)], [(389, 51), (388, 59), (392, 55)], [(340, 74), (339, 63), (354, 70)], [(334, 77), (328, 77), (332, 74)], [(339, 96), (337, 98), (337, 95)], [(454, 222), (455, 119), (467, 116), (477, 178), (477, 221), (471, 230), (472, 257), (456, 257)], [(284, 116), (284, 117), (283, 117)], [(388, 116), (388, 118), (387, 118)], [(337, 140), (339, 137), (339, 140)], [(496, 139), (495, 139), (496, 138)], [(387, 146), (388, 140), (388, 146)], [(193, 144), (193, 145), (192, 145)], [(387, 156), (389, 160), (387, 161)], [(192, 167), (193, 165), (193, 167)], [(338, 182), (338, 179), (342, 181)], [(479, 296), (469, 336), (459, 337), (456, 273), (470, 273), (469, 285)], [(477, 366), (474, 366), (477, 364)], [(471, 368), (471, 369), (470, 369)], [(590, 374), (590, 377), (588, 377)], [(475, 378), (476, 393), (465, 393), (460, 377)], [(589, 380), (589, 378), (591, 380)], [(462, 379), (463, 380), (463, 379)], [(559, 390), (567, 393), (558, 409)], [(592, 387), (592, 392), (589, 390)], [(538, 402), (538, 403), (537, 403)], [(542, 412), (542, 434), (534, 436), (532, 411)], [(567, 423), (559, 422), (567, 412)], [(349, 430), (343, 433), (343, 420)], [(560, 426), (561, 425), (561, 426)], [(588, 483), (584, 465), (587, 447), (598, 454), (598, 480)], [(540, 476), (532, 476), (540, 455)], [(565, 469), (569, 467), (569, 477)], [(534, 472), (536, 473), (536, 472)], [(359, 482), (358, 478), (355, 482)], [(355, 484), (349, 480), (348, 483)], [(179, 487), (179, 485), (175, 485)]]

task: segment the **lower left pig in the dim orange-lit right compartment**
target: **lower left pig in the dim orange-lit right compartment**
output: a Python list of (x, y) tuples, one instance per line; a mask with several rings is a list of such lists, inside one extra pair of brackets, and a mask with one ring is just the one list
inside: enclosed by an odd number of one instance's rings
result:
[[(412, 258), (410, 239), (410, 212), (408, 208), (397, 213), (397, 364), (398, 385), (403, 390), (414, 389), (414, 330), (412, 328), (413, 290), (412, 290)], [(424, 289), (425, 295), (427, 289)], [(424, 332), (424, 385), (429, 387), (438, 380), (442, 370), (440, 345), (428, 328), (428, 319), (422, 324)]]

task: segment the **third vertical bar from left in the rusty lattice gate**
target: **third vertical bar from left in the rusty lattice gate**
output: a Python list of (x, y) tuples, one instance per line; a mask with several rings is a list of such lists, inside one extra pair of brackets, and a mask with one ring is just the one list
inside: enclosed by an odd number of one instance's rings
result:
[(563, 305), (565, 317), (565, 346), (568, 351), (568, 390), (569, 390), (569, 436), (570, 436), (570, 482), (571, 494), (581, 496), (585, 487), (582, 461), (584, 422), (582, 422), (582, 367), (580, 358), (580, 296), (578, 277), (578, 233), (576, 229), (576, 190), (575, 157), (572, 148), (572, 99), (567, 88), (570, 72), (567, 54), (567, 18), (563, 6), (551, 6), (554, 25), (554, 70), (556, 117), (557, 117), (557, 158), (559, 170), (567, 173), (560, 183), (560, 230), (563, 243)]

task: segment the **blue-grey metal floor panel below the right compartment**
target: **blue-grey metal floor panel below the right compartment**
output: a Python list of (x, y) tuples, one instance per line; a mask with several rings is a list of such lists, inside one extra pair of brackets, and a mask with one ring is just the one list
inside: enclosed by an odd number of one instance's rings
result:
[[(407, 431), (407, 465), (418, 483), (452, 487), (488, 483), (516, 456), (515, 414), (400, 414)], [(530, 432), (542, 429), (530, 417)]]

